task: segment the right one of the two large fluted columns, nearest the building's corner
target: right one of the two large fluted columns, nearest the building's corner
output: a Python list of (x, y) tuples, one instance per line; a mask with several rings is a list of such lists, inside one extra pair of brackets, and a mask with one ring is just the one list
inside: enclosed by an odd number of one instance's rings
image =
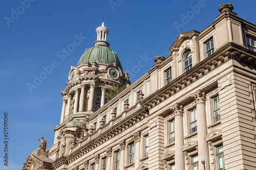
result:
[(207, 124), (205, 114), (205, 92), (202, 90), (196, 91), (191, 95), (197, 104), (197, 136), (198, 136), (198, 161), (199, 169), (204, 169), (202, 160), (205, 160), (205, 169), (209, 170), (208, 146), (205, 140), (207, 135)]

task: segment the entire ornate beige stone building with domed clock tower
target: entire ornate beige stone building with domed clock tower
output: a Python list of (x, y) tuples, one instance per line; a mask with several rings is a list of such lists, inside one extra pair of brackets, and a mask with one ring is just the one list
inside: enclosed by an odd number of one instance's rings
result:
[[(40, 140), (24, 168), (256, 169), (256, 26), (232, 10), (181, 33), (132, 84), (102, 23), (61, 91), (54, 144)], [(127, 87), (106, 103), (113, 84)]]

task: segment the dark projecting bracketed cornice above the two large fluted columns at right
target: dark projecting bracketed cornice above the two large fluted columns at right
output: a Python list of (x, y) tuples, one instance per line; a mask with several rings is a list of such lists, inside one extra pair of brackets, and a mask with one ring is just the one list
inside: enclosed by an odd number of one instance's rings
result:
[(252, 51), (249, 52), (249, 50), (241, 47), (240, 45), (231, 42), (227, 43), (214, 54), (189, 69), (183, 75), (147, 96), (145, 99), (143, 99), (143, 101), (141, 101), (141, 106), (145, 106), (149, 110), (152, 109), (162, 101), (168, 99), (170, 96), (198, 81), (204, 77), (204, 75), (209, 74), (212, 70), (215, 70), (217, 67), (227, 62), (231, 58), (255, 67), (255, 54), (256, 53)]

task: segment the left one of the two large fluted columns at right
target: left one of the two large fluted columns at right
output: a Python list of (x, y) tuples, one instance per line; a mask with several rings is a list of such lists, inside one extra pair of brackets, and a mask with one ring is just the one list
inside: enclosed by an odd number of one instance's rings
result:
[[(184, 170), (184, 154), (181, 147), (184, 144), (183, 139), (183, 106), (176, 103), (172, 110), (175, 116), (175, 169)], [(199, 162), (200, 163), (200, 162)]]

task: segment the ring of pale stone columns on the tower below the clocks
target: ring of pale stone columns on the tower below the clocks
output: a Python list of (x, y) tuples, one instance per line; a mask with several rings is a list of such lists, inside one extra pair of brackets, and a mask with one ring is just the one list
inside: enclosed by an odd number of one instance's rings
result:
[[(86, 110), (83, 109), (84, 100), (85, 96), (85, 89), (86, 89), (86, 84), (81, 84), (80, 88), (75, 89), (75, 94), (71, 95), (69, 94), (67, 97), (64, 97), (62, 99), (62, 110), (61, 110), (61, 118), (60, 118), (60, 124), (64, 122), (65, 117), (68, 116), (71, 113), (71, 100), (74, 98), (74, 110), (73, 114), (76, 114), (77, 112), (84, 112)], [(106, 87), (101, 87), (101, 103), (100, 107), (104, 105), (105, 101), (105, 89)], [(95, 83), (90, 84), (90, 96), (89, 96), (89, 102), (88, 102), (88, 109), (87, 111), (93, 111), (93, 104), (94, 104), (94, 94), (95, 93)], [(79, 99), (79, 94), (80, 94), (80, 99)]]

